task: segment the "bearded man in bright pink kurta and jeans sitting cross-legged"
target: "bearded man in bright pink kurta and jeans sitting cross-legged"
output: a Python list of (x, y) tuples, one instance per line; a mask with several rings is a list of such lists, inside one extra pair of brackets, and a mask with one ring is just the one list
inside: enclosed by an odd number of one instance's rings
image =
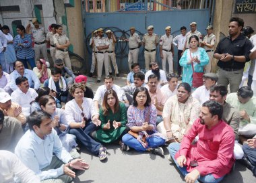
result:
[[(230, 172), (234, 164), (234, 131), (221, 119), (222, 112), (222, 105), (206, 101), (183, 141), (168, 146), (186, 182), (220, 182)], [(191, 144), (197, 135), (197, 143)]]

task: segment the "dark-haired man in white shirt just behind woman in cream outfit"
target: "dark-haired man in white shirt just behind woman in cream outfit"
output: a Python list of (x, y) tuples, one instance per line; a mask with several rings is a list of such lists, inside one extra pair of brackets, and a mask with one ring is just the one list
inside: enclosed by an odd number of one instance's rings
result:
[(166, 94), (166, 101), (173, 95), (177, 94), (177, 86), (178, 86), (178, 78), (179, 76), (177, 74), (167, 74), (167, 84), (162, 86), (161, 91), (162, 93)]

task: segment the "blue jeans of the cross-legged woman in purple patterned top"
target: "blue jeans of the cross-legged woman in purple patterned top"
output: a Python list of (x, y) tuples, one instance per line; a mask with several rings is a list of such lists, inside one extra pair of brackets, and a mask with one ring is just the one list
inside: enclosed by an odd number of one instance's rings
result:
[[(135, 149), (136, 151), (143, 152), (147, 150), (141, 145), (141, 143), (137, 139), (135, 139), (135, 137), (128, 133), (123, 135), (122, 141), (123, 143)], [(162, 139), (161, 137), (158, 136), (146, 138), (146, 141), (148, 142), (148, 147), (158, 147), (160, 145), (164, 145), (165, 143), (165, 139)]]

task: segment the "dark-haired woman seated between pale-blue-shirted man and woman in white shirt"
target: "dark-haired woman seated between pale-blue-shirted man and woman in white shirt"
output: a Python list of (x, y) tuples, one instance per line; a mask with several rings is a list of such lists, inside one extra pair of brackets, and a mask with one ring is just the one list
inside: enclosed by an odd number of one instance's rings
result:
[[(39, 105), (42, 111), (51, 115), (53, 128), (57, 131), (63, 147), (70, 152), (77, 146), (77, 143), (75, 142), (75, 135), (67, 133), (69, 131), (69, 125), (65, 117), (65, 111), (56, 108), (55, 99), (51, 95), (40, 97)], [(74, 151), (76, 151), (76, 149), (74, 149)]]

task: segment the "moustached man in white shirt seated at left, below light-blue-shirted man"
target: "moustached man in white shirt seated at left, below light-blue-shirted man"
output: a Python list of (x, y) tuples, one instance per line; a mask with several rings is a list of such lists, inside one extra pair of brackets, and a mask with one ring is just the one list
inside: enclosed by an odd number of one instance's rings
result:
[(18, 88), (11, 93), (12, 101), (22, 107), (22, 113), (25, 116), (30, 115), (30, 103), (36, 99), (38, 94), (36, 90), (30, 88), (28, 78), (20, 76), (16, 78), (15, 83)]

